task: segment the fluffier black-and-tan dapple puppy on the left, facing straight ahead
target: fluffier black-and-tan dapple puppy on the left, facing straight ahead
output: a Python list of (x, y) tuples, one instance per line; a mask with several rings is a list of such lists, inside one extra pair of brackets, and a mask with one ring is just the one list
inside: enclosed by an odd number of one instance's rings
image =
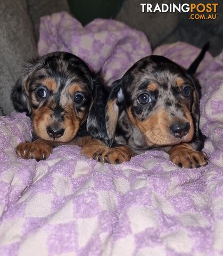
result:
[(11, 98), (33, 126), (33, 141), (16, 148), (19, 157), (45, 159), (61, 144), (81, 146), (81, 153), (90, 157), (97, 148), (95, 139), (108, 143), (100, 107), (108, 92), (100, 75), (73, 54), (53, 52), (26, 63)]

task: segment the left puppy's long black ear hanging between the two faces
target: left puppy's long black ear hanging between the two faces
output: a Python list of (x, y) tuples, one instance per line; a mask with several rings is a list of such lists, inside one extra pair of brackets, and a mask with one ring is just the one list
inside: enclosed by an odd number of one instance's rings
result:
[(86, 130), (95, 139), (109, 144), (105, 126), (105, 107), (109, 91), (104, 85), (101, 72), (91, 75), (92, 103), (88, 111)]

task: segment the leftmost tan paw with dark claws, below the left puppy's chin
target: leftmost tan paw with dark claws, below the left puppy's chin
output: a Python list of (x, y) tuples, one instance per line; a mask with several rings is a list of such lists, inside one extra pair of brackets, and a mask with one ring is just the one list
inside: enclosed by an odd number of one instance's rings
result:
[(16, 153), (24, 159), (34, 158), (37, 161), (46, 159), (52, 153), (53, 147), (48, 143), (26, 142), (16, 147)]

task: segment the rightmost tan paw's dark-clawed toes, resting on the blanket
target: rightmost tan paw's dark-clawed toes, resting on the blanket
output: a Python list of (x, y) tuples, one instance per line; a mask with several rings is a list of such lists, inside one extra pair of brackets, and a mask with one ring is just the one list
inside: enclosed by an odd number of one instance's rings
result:
[(206, 153), (191, 149), (180, 150), (178, 153), (171, 154), (170, 159), (179, 167), (184, 168), (199, 168), (209, 163)]

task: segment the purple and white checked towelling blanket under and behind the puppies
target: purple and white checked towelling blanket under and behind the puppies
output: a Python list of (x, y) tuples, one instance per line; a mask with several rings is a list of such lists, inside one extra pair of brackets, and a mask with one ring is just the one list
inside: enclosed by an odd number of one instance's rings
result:
[[(152, 53), (143, 33), (120, 22), (82, 27), (67, 13), (42, 18), (38, 49), (75, 53), (102, 68), (108, 84)], [(153, 53), (188, 67), (199, 49), (178, 42)], [(76, 146), (57, 147), (45, 161), (18, 159), (14, 148), (31, 139), (30, 119), (1, 117), (0, 255), (222, 255), (223, 52), (206, 54), (200, 71), (210, 157), (200, 169), (180, 169), (162, 151), (101, 164)]]

